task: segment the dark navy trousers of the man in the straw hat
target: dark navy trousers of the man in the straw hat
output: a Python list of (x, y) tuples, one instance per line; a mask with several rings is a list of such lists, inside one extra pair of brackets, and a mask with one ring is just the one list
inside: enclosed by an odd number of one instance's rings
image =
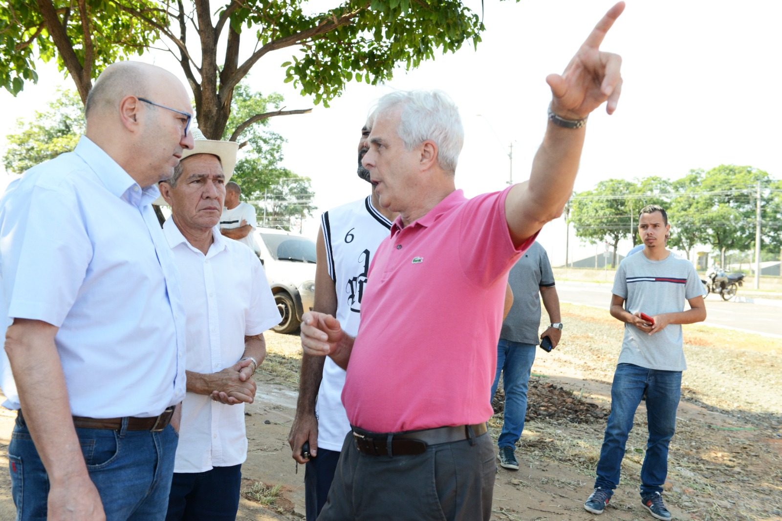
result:
[(241, 463), (205, 472), (174, 473), (166, 521), (234, 521), (241, 488)]

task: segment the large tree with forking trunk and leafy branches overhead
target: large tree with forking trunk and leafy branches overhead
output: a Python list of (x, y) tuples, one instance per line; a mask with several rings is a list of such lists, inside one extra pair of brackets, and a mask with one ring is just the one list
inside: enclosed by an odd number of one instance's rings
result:
[[(36, 60), (56, 59), (84, 101), (109, 62), (141, 54), (160, 37), (192, 88), (199, 128), (219, 139), (235, 88), (271, 51), (290, 48), (285, 81), (328, 105), (350, 80), (389, 80), (397, 64), (410, 70), (438, 49), (477, 45), (484, 30), (460, 0), (346, 0), (314, 14), (308, 7), (305, 0), (9, 0), (0, 7), (0, 82), (16, 94), (37, 80)], [(240, 57), (242, 36), (256, 45)], [(309, 110), (259, 112), (241, 124)]]

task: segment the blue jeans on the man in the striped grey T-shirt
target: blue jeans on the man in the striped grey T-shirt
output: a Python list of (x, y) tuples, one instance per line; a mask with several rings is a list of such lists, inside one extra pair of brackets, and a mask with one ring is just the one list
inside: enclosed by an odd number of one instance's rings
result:
[(659, 371), (626, 363), (616, 366), (611, 386), (611, 414), (597, 462), (595, 487), (614, 490), (619, 485), (627, 437), (633, 428), (636, 409), (646, 394), (649, 439), (640, 469), (640, 495), (645, 498), (655, 492), (662, 493), (668, 475), (668, 444), (676, 430), (681, 385), (681, 371)]

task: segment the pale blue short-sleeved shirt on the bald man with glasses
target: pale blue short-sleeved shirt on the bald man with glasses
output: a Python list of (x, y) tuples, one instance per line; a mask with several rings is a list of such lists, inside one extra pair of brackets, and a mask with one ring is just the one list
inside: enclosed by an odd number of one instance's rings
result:
[[(0, 334), (14, 318), (59, 327), (74, 416), (157, 416), (185, 396), (185, 313), (157, 196), (81, 137), (0, 200)], [(3, 405), (19, 409), (2, 355)]]

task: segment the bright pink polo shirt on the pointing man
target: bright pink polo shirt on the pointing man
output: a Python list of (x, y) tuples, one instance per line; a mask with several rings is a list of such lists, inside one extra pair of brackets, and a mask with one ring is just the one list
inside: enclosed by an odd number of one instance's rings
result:
[(514, 248), (506, 189), (452, 192), (375, 252), (343, 403), (378, 433), (485, 422)]

